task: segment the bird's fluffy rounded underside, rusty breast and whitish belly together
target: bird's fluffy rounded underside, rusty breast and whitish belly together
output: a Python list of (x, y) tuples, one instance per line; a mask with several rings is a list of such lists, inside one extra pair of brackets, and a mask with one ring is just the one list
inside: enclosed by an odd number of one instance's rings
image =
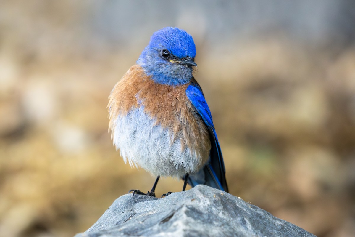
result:
[(109, 129), (131, 165), (162, 176), (193, 173), (208, 160), (211, 143), (186, 96), (187, 85), (157, 84), (134, 65), (109, 101)]

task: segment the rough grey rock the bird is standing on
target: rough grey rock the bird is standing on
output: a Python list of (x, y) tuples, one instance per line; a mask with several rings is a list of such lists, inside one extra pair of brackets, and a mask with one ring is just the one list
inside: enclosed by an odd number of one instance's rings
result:
[(218, 189), (197, 185), (165, 198), (126, 194), (86, 232), (108, 236), (315, 236)]

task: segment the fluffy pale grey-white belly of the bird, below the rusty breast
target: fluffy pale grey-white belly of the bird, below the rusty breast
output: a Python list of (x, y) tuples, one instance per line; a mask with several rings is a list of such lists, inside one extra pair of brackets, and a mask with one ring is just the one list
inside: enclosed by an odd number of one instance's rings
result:
[(115, 119), (111, 136), (125, 163), (128, 160), (131, 166), (140, 166), (154, 176), (183, 177), (207, 162), (208, 157), (182, 146), (185, 141), (174, 140), (168, 128), (155, 122), (143, 107)]

